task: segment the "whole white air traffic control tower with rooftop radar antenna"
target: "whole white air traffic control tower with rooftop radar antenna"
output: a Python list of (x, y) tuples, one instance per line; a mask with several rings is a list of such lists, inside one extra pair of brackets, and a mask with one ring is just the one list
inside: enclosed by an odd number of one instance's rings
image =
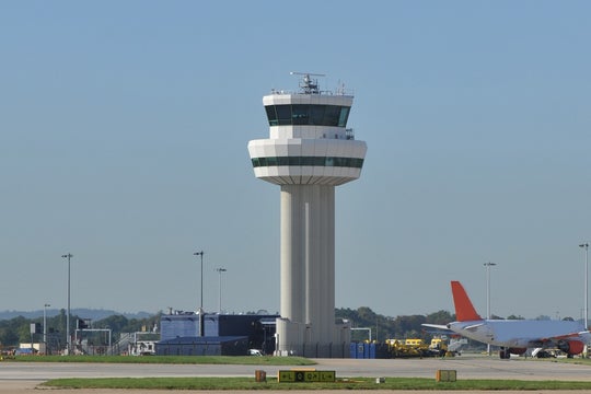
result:
[(335, 322), (335, 186), (361, 174), (367, 146), (347, 128), (352, 95), (321, 91), (263, 97), (269, 138), (248, 142), (257, 178), (281, 186), (280, 315), (276, 354), (344, 357), (350, 331)]

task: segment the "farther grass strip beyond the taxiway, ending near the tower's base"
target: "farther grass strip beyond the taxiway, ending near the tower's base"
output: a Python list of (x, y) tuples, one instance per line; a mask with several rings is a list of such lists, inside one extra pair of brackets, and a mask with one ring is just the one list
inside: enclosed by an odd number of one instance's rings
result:
[(104, 363), (183, 363), (183, 364), (243, 364), (243, 366), (313, 366), (303, 357), (273, 356), (18, 356), (5, 362), (104, 362)]

